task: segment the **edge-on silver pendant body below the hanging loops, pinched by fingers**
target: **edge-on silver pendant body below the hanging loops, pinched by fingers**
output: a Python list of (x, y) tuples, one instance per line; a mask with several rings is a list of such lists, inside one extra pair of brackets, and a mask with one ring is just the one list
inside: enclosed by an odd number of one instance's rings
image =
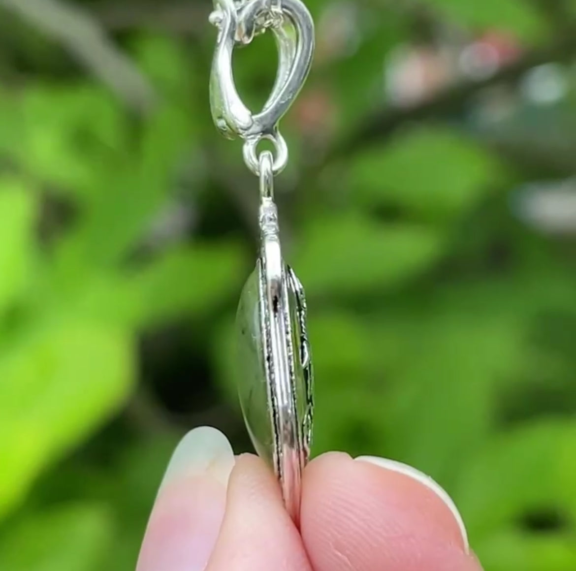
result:
[(237, 313), (240, 403), (257, 453), (274, 468), (298, 520), (312, 438), (313, 376), (304, 289), (282, 259), (276, 206), (260, 206), (262, 244)]

